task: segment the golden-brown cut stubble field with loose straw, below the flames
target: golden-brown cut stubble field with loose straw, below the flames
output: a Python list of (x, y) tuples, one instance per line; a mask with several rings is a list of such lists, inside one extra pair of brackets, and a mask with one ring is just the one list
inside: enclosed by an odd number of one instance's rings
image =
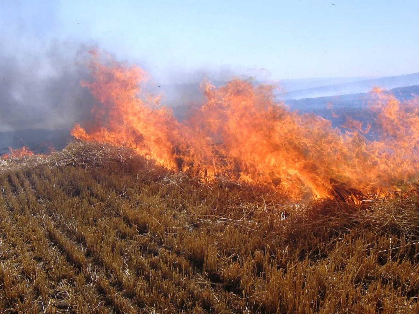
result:
[(360, 205), (292, 204), (108, 146), (6, 162), (4, 312), (419, 311), (415, 186)]

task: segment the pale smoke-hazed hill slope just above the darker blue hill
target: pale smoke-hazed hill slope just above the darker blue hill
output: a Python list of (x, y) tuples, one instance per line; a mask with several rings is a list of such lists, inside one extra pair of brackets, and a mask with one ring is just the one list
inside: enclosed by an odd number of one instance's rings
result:
[(288, 90), (284, 93), (278, 93), (277, 97), (279, 99), (318, 98), (332, 95), (366, 93), (375, 86), (392, 89), (412, 85), (419, 85), (419, 73), (342, 82), (300, 90)]

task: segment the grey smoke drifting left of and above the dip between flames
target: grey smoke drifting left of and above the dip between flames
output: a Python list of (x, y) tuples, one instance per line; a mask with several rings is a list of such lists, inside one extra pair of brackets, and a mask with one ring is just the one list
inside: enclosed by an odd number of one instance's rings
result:
[[(48, 134), (70, 134), (75, 124), (90, 118), (97, 100), (80, 82), (91, 81), (86, 66), (91, 58), (88, 51), (104, 43), (103, 39), (93, 42), (89, 26), (78, 24), (74, 20), (70, 25), (54, 2), (43, 6), (8, 3), (0, 10), (0, 27), (4, 30), (0, 37), (0, 154), (8, 146), (26, 144), (33, 148), (34, 134), (44, 138)], [(85, 34), (80, 33), (81, 29)], [(110, 49), (109, 45), (104, 48)], [(118, 45), (111, 49), (117, 59), (133, 58), (118, 51)], [(203, 80), (219, 86), (234, 73), (243, 73), (230, 67), (191, 70), (173, 64), (168, 70), (151, 60), (147, 62), (140, 51), (138, 54), (141, 62), (129, 63), (140, 64), (150, 73), (152, 79), (145, 89), (161, 95), (162, 105), (173, 108), (179, 119), (190, 106), (202, 103)]]

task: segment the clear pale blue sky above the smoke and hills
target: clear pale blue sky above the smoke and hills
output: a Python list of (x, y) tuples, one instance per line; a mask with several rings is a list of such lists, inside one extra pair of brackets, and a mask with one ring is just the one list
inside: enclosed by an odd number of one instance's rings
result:
[[(0, 53), (97, 44), (170, 71), (270, 79), (419, 72), (419, 1), (2, 0)], [(238, 73), (239, 74), (239, 73)]]

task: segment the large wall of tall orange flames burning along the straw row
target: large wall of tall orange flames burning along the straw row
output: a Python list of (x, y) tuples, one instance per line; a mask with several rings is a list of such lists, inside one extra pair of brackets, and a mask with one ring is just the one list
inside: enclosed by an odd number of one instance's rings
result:
[(220, 88), (202, 84), (202, 106), (179, 122), (160, 98), (146, 93), (146, 74), (136, 66), (93, 54), (93, 82), (83, 82), (100, 101), (85, 126), (72, 135), (124, 145), (171, 170), (269, 185), (285, 196), (328, 198), (336, 193), (382, 193), (418, 178), (418, 100), (401, 103), (374, 90), (370, 127), (348, 119), (347, 131), (314, 114), (298, 114), (274, 99), (273, 87), (232, 80)]

